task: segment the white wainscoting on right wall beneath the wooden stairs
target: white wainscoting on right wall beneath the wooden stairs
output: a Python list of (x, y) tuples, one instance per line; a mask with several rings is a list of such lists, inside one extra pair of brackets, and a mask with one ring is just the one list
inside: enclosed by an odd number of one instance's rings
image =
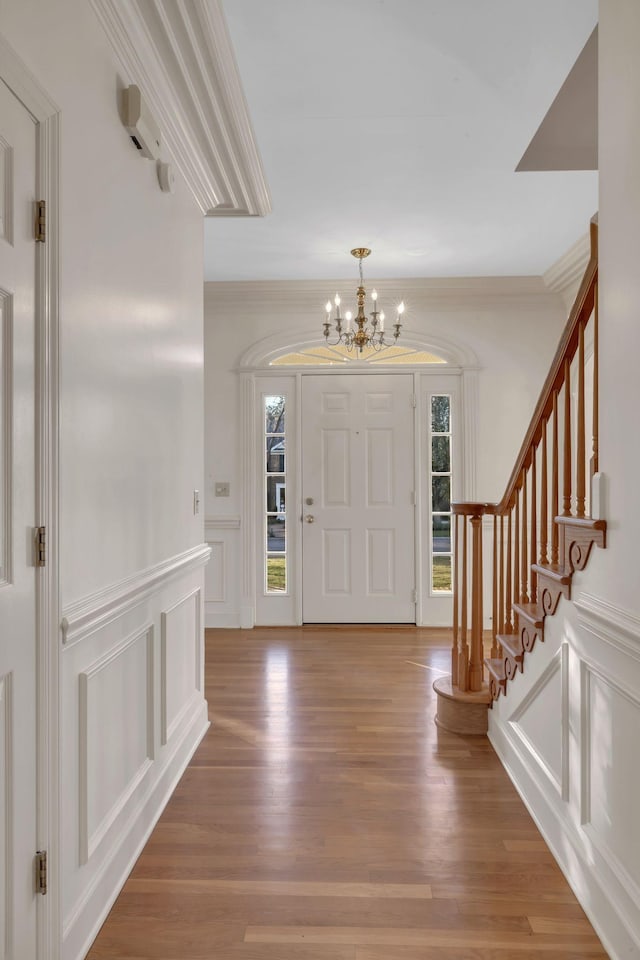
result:
[(640, 620), (575, 592), (494, 703), (489, 738), (612, 960), (631, 960), (640, 957)]

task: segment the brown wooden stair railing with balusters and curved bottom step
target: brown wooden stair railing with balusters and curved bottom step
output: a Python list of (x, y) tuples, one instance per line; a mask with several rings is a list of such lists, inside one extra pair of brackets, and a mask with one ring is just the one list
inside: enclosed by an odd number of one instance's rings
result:
[[(504, 496), (499, 503), (452, 504), (451, 677), (434, 687), (436, 722), (454, 732), (482, 732), (476, 729), (482, 705), (497, 699), (524, 669), (526, 654), (544, 639), (545, 617), (555, 613), (560, 597), (570, 598), (573, 573), (584, 569), (594, 544), (605, 546), (605, 521), (590, 515), (591, 480), (598, 472), (597, 284), (597, 225), (592, 223), (589, 263)], [(591, 391), (587, 331), (593, 340)], [(483, 541), (489, 540), (491, 562), (483, 567)], [(485, 589), (485, 571), (490, 589)], [(486, 659), (485, 598), (492, 614)], [(468, 724), (470, 704), (476, 709), (474, 730)]]

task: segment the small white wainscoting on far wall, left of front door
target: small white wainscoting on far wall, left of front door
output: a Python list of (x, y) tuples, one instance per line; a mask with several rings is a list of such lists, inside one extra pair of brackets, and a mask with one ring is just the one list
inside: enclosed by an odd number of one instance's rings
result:
[(205, 626), (240, 626), (240, 517), (210, 516), (205, 536), (211, 560), (205, 573)]

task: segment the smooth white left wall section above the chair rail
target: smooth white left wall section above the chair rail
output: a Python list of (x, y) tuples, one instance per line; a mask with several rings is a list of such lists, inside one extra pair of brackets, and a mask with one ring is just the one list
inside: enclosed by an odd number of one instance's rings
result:
[(192, 510), (202, 476), (202, 218), (183, 182), (161, 193), (155, 164), (132, 147), (118, 117), (128, 81), (90, 4), (4, 0), (1, 9), (3, 33), (63, 114), (65, 604), (202, 539)]

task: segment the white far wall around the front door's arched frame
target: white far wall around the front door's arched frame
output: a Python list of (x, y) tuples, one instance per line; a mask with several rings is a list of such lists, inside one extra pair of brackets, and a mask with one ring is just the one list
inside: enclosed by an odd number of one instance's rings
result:
[[(370, 286), (373, 286), (373, 279)], [(405, 330), (431, 339), (434, 352), (446, 341), (477, 358), (477, 409), (473, 410), (477, 457), (467, 471), (466, 498), (499, 500), (566, 321), (559, 294), (536, 278), (379, 281), (381, 302), (404, 298)], [(232, 577), (219, 570), (242, 565), (244, 524), (240, 385), (236, 372), (253, 344), (281, 335), (291, 344), (321, 334), (323, 304), (339, 290), (355, 300), (355, 283), (318, 282), (205, 284), (205, 475), (207, 539), (224, 542), (209, 567), (207, 623), (239, 624), (240, 596), (221, 598), (216, 584)], [(346, 308), (346, 307), (345, 307)], [(389, 312), (389, 310), (387, 310)], [(282, 368), (280, 368), (282, 370)], [(475, 479), (473, 479), (475, 474)], [(231, 483), (231, 496), (216, 498), (214, 483)], [(216, 518), (235, 518), (236, 528), (216, 533)], [(213, 539), (212, 539), (213, 538)], [(213, 590), (217, 590), (213, 599)], [(227, 588), (229, 589), (229, 588)], [(210, 598), (212, 600), (210, 601)]]

